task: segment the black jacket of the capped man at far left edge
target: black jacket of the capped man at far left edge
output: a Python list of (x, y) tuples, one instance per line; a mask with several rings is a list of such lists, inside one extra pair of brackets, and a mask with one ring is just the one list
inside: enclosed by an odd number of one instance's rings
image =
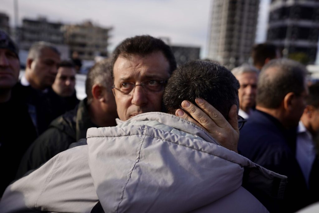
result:
[(19, 97), (12, 95), (8, 102), (0, 103), (0, 197), (14, 180), (23, 154), (36, 137), (28, 106)]

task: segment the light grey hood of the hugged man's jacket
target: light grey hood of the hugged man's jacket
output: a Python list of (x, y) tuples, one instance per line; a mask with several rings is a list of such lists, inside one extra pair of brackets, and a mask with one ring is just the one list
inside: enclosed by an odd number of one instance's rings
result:
[[(202, 128), (150, 112), (87, 131), (88, 162), (106, 212), (187, 212), (241, 187), (245, 168), (278, 175), (219, 144)], [(104, 168), (101, 170), (100, 168)], [(257, 171), (257, 172), (256, 172)]]

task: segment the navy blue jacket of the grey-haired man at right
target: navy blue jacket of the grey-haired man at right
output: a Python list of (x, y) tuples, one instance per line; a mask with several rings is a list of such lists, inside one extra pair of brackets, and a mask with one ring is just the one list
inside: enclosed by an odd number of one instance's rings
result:
[(286, 130), (276, 118), (259, 110), (250, 115), (240, 131), (239, 154), (288, 177), (283, 200), (270, 201), (253, 193), (271, 212), (295, 212), (311, 203), (295, 158), (296, 133), (296, 129)]

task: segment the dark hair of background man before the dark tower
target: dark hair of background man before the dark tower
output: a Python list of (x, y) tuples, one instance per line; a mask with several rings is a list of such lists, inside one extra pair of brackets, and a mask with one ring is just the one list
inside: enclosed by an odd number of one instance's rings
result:
[(274, 59), (276, 58), (277, 48), (275, 45), (262, 43), (254, 45), (251, 57), (254, 61), (254, 66), (263, 66), (265, 65), (266, 58)]

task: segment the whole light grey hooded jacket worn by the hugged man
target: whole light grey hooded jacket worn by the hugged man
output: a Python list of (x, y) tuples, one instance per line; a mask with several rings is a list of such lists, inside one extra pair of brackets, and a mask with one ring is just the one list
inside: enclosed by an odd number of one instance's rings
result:
[[(242, 185), (278, 195), (286, 177), (218, 145), (174, 115), (140, 114), (116, 127), (90, 128), (87, 145), (59, 153), (6, 189), (0, 212), (268, 212)], [(273, 190), (273, 189), (272, 189)]]

